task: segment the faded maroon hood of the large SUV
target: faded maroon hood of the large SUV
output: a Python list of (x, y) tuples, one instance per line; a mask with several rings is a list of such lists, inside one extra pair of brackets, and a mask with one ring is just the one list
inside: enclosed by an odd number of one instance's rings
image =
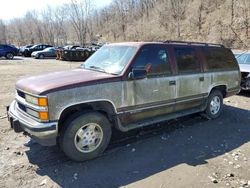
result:
[(16, 83), (16, 89), (35, 95), (45, 95), (54, 91), (100, 84), (116, 79), (120, 78), (116, 75), (79, 68), (23, 78)]

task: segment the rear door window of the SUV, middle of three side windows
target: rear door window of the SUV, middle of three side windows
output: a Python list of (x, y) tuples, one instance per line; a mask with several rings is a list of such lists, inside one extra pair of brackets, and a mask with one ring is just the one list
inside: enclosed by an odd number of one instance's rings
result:
[(200, 65), (195, 50), (188, 47), (175, 48), (175, 57), (179, 73), (199, 72)]

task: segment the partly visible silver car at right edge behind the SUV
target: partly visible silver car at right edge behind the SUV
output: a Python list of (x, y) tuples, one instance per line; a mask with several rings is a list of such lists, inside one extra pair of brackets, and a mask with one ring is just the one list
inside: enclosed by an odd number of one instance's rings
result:
[(241, 72), (241, 89), (250, 90), (250, 52), (245, 51), (235, 54), (240, 66)]

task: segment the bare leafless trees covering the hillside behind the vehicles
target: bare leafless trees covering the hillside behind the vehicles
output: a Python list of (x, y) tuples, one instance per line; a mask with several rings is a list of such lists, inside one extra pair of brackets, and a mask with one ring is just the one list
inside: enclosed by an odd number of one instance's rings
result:
[(248, 48), (249, 27), (249, 0), (113, 0), (103, 8), (91, 0), (71, 0), (0, 20), (0, 43), (190, 40)]

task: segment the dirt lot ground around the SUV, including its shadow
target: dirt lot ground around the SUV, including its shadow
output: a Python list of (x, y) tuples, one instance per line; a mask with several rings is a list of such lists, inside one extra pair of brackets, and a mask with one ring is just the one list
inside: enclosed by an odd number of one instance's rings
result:
[(5, 106), (17, 79), (79, 63), (0, 59), (0, 187), (250, 187), (250, 94), (224, 100), (220, 118), (192, 115), (126, 134), (76, 163), (9, 128)]

